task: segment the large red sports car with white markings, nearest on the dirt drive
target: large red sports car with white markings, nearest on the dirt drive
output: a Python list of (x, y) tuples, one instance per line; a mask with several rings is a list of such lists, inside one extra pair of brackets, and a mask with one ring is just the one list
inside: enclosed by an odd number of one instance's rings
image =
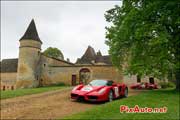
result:
[(71, 99), (78, 101), (112, 101), (128, 96), (128, 87), (110, 80), (92, 80), (88, 85), (77, 85), (71, 91)]

